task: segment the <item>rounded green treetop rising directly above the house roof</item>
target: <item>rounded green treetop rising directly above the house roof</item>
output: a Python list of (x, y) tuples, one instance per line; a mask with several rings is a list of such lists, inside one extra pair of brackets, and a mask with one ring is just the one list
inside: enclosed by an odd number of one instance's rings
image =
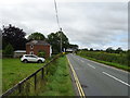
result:
[(41, 33), (34, 33), (34, 34), (29, 35), (27, 39), (28, 40), (44, 40), (46, 37)]

